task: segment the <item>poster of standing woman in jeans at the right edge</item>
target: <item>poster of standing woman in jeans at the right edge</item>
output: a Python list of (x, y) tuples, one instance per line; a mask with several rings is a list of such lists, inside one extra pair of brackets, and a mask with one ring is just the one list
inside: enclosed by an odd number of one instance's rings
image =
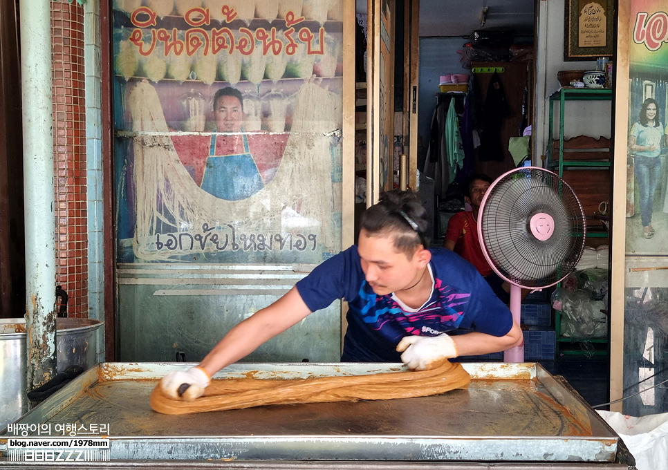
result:
[[(656, 37), (668, 24), (660, 2), (634, 0), (629, 66), (627, 254), (665, 254), (668, 235), (666, 118), (668, 46)], [(665, 28), (663, 28), (665, 31)]]

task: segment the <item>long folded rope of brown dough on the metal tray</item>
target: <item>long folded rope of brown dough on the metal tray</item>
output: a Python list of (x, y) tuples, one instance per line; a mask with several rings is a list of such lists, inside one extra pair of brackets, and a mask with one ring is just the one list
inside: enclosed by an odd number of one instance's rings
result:
[(193, 402), (174, 400), (160, 383), (149, 403), (158, 413), (183, 415), (273, 404), (354, 402), (425, 397), (466, 388), (470, 375), (461, 364), (445, 361), (431, 370), (340, 375), (308, 379), (214, 379), (205, 394)]

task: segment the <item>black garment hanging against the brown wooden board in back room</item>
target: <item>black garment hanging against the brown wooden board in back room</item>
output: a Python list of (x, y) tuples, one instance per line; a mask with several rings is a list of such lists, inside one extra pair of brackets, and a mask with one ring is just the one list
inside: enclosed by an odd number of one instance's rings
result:
[(483, 104), (483, 125), (478, 160), (503, 162), (505, 153), (501, 144), (503, 120), (510, 115), (510, 105), (505, 97), (499, 74), (494, 72), (487, 88)]

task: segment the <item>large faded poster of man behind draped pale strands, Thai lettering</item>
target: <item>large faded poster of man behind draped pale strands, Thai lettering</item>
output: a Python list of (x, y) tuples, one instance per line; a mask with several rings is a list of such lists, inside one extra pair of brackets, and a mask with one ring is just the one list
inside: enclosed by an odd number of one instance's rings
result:
[(113, 2), (118, 261), (341, 248), (342, 2)]

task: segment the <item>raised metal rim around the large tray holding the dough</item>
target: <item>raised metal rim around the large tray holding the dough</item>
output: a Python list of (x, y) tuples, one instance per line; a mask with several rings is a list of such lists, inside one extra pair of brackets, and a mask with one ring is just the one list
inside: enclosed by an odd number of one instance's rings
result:
[[(47, 422), (63, 408), (77, 399), (86, 388), (98, 382), (114, 379), (159, 379), (175, 368), (188, 368), (185, 363), (103, 363), (87, 370), (60, 391), (42, 402), (37, 408), (23, 415), (17, 422), (40, 424)], [(163, 438), (159, 436), (109, 436), (113, 460), (135, 460), (142, 458), (162, 460), (165, 455), (172, 459), (192, 460), (215, 458), (222, 460), (339, 460), (341, 446), (346, 449), (346, 460), (447, 460), (485, 461), (517, 460), (545, 462), (613, 462), (617, 451), (618, 437), (602, 418), (585, 402), (559, 384), (539, 364), (464, 363), (474, 379), (485, 378), (537, 378), (545, 382), (555, 400), (568, 408), (575, 416), (586, 416), (593, 425), (592, 431), (600, 435), (573, 436), (570, 445), (563, 449), (559, 442), (548, 438), (494, 437), (391, 437), (383, 436), (286, 436), (268, 437), (183, 437)], [(343, 370), (345, 369), (345, 370)], [(280, 375), (290, 378), (322, 377), (329, 375), (362, 375), (389, 371), (407, 370), (404, 364), (340, 364), (340, 363), (238, 363), (228, 366), (214, 377), (246, 377), (252, 371), (254, 377), (271, 378)], [(75, 393), (73, 393), (75, 392)], [(6, 429), (0, 436), (6, 434)], [(106, 437), (106, 436), (105, 436)], [(147, 439), (151, 448), (147, 449)], [(370, 454), (369, 444), (373, 444)], [(484, 444), (484, 446), (482, 445)], [(7, 443), (0, 438), (0, 451), (6, 451)], [(304, 446), (310, 446), (304, 450)], [(391, 451), (389, 451), (391, 449)], [(527, 449), (541, 449), (541, 455)], [(396, 458), (400, 453), (405, 458)], [(179, 455), (181, 455), (179, 457)]]

